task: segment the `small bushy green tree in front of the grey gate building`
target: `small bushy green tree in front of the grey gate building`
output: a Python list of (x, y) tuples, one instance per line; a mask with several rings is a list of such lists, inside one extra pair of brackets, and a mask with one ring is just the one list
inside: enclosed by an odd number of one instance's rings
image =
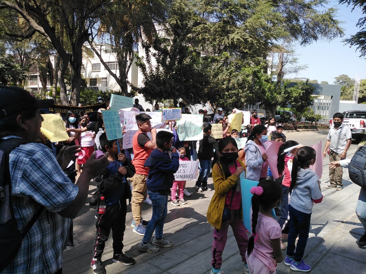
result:
[(289, 103), (291, 104), (291, 108), (298, 112), (297, 119), (299, 121), (301, 120), (305, 109), (313, 104), (314, 90), (315, 87), (309, 84), (309, 79), (306, 79), (306, 81), (299, 81), (294, 87), (289, 88), (289, 91), (291, 92), (291, 100), (289, 100)]

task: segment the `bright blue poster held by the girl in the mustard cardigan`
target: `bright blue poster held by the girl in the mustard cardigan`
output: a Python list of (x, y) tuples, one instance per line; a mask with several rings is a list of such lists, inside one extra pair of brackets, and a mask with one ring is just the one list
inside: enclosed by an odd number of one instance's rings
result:
[[(254, 186), (258, 186), (258, 182), (245, 179), (245, 172), (242, 172), (242, 174), (240, 174), (240, 187), (242, 189), (243, 223), (250, 234), (252, 233), (250, 208), (251, 198), (253, 196), (253, 194), (250, 193), (250, 189)], [(272, 209), (272, 216), (276, 219), (275, 209)]]

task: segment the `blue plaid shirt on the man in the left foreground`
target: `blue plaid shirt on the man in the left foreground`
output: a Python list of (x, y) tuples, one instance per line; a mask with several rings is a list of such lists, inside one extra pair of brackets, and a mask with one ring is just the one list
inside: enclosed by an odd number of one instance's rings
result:
[[(4, 139), (12, 137), (16, 136)], [(79, 188), (67, 178), (45, 145), (19, 145), (10, 152), (9, 159), (12, 205), (20, 233), (40, 205), (45, 209), (23, 238), (18, 255), (1, 273), (55, 273), (62, 267), (70, 227), (70, 219), (57, 212), (74, 201)]]

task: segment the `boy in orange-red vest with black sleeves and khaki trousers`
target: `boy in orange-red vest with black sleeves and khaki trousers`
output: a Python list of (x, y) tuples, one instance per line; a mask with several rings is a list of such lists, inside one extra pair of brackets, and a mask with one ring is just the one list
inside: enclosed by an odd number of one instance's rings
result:
[[(132, 140), (132, 148), (134, 151), (134, 159), (132, 164), (135, 166), (136, 173), (131, 178), (132, 185), (132, 203), (131, 210), (134, 220), (133, 232), (140, 236), (145, 235), (147, 222), (143, 222), (141, 217), (142, 202), (147, 196), (146, 179), (149, 174), (149, 167), (145, 167), (145, 161), (153, 149), (156, 149), (156, 129), (151, 127), (150, 119), (152, 119), (146, 113), (136, 115), (136, 123), (138, 131), (135, 133)], [(151, 132), (151, 140), (147, 136), (147, 132)], [(151, 197), (150, 197), (151, 199)]]

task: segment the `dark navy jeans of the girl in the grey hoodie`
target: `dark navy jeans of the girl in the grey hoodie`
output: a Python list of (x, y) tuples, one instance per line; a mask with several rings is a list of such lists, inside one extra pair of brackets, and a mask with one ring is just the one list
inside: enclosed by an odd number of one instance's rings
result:
[[(287, 239), (287, 256), (294, 258), (295, 262), (301, 262), (304, 256), (307, 238), (309, 238), (311, 213), (303, 213), (288, 206), (290, 213), (290, 231)], [(295, 252), (295, 240), (299, 235), (298, 244)]]

